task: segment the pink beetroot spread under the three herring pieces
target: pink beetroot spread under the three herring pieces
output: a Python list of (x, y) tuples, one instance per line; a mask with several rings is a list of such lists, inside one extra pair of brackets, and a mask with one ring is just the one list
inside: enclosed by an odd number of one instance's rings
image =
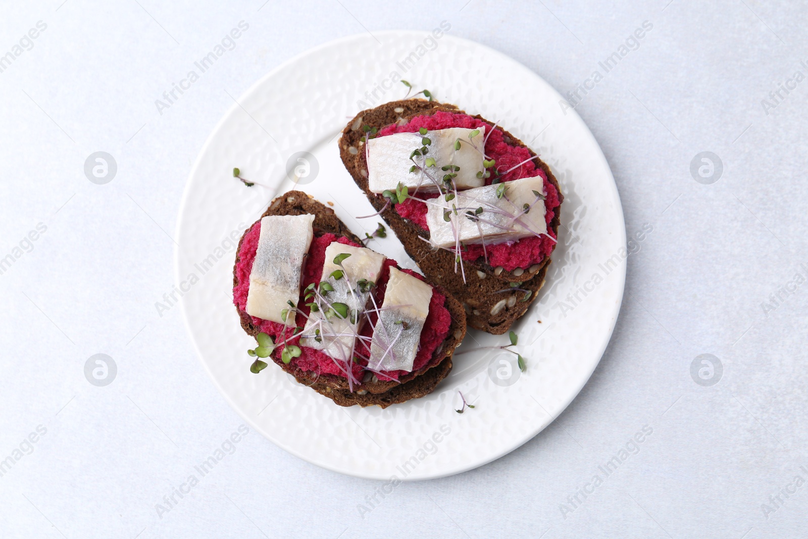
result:
[[(236, 284), (236, 286), (233, 288), (233, 302), (238, 307), (238, 310), (246, 310), (247, 293), (250, 290), (250, 272), (252, 272), (252, 265), (253, 261), (255, 260), (255, 251), (258, 249), (260, 234), (261, 221), (256, 221), (255, 224), (252, 225), (249, 230), (247, 230), (246, 234), (244, 235), (244, 240), (242, 241), (241, 249), (238, 251), (238, 263), (236, 264), (236, 280), (238, 281), (238, 284)], [(319, 238), (315, 237), (311, 242), (311, 247), (309, 248), (309, 256), (303, 272), (303, 284), (301, 286), (301, 290), (311, 283), (318, 283), (320, 281), (322, 277), (322, 265), (325, 263), (326, 247), (335, 241), (344, 243), (346, 245), (360, 247), (360, 245), (351, 242), (347, 238), (337, 238), (335, 234), (323, 234)], [(387, 281), (389, 280), (390, 266), (397, 266), (395, 260), (385, 260), (385, 266), (381, 271), (381, 276), (379, 282), (377, 283), (377, 305), (381, 305), (381, 302), (385, 299), (385, 290), (387, 288)], [(406, 269), (402, 271), (423, 280), (423, 277), (416, 272)], [(446, 297), (438, 293), (437, 290), (432, 292), (432, 299), (429, 304), (429, 314), (427, 314), (427, 320), (423, 326), (423, 331), (421, 332), (421, 342), (419, 344), (418, 354), (415, 356), (413, 371), (423, 368), (427, 363), (429, 363), (432, 358), (432, 353), (435, 352), (436, 348), (444, 341), (444, 339), (446, 339), (446, 335), (448, 335), (449, 325), (452, 322), (452, 317), (444, 306), (445, 301)], [(299, 308), (303, 313), (305, 313), (306, 316), (308, 316), (309, 308), (306, 307), (304, 303), (305, 302), (301, 297), (300, 301), (298, 302)], [(373, 324), (376, 323), (375, 318), (376, 315), (371, 314), (371, 321)], [(275, 343), (282, 342), (292, 331), (291, 327), (286, 327), (284, 330), (284, 325), (279, 324), (278, 322), (270, 322), (268, 320), (255, 317), (252, 317), (252, 321), (255, 326), (259, 327), (261, 331), (267, 335), (270, 335)], [(297, 326), (305, 326), (304, 315), (298, 313), (295, 322)], [(285, 334), (284, 331), (286, 332)], [(367, 337), (372, 335), (371, 324), (364, 325), (361, 335)], [(288, 344), (300, 346), (300, 337), (292, 337), (291, 339), (288, 339), (287, 342)], [(292, 359), (293, 366), (306, 372), (314, 371), (318, 374), (334, 374), (336, 376), (346, 377), (342, 368), (340, 368), (337, 362), (335, 362), (335, 360), (330, 356), (327, 356), (325, 353), (315, 350), (314, 348), (300, 348), (302, 352), (301, 356)], [(280, 359), (280, 353), (283, 352), (283, 350), (283, 345), (276, 347), (274, 352), (276, 358)], [(363, 352), (363, 355), (368, 356), (368, 352)], [(360, 363), (354, 363), (351, 365), (353, 374), (358, 380), (362, 380), (364, 365), (367, 363), (367, 360), (360, 360)], [(398, 380), (398, 377), (405, 374), (406, 371), (389, 371), (385, 372), (379, 378), (381, 380)]]

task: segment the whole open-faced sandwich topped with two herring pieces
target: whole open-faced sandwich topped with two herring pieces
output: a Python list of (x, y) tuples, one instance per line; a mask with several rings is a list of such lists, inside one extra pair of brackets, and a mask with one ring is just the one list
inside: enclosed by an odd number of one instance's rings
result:
[(563, 196), (523, 142), (454, 105), (404, 99), (360, 112), (343, 163), (427, 279), (469, 326), (503, 334), (544, 284)]

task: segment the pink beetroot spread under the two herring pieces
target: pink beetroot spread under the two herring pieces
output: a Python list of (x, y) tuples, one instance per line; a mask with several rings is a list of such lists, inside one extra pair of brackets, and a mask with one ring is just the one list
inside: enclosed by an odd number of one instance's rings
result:
[[(392, 135), (393, 133), (415, 133), (420, 128), (427, 128), (430, 130), (446, 129), (452, 127), (476, 129), (481, 126), (486, 128), (486, 155), (489, 159), (496, 161), (496, 167), (499, 171), (507, 171), (511, 167), (518, 165), (525, 159), (530, 158), (530, 152), (527, 148), (508, 144), (503, 140), (505, 134), (502, 129), (491, 129), (493, 125), (487, 124), (482, 120), (473, 118), (467, 114), (459, 112), (436, 112), (431, 116), (415, 116), (406, 125), (388, 125), (379, 131), (377, 137), (384, 137), (385, 135)], [(490, 133), (490, 135), (489, 135)], [(517, 167), (506, 175), (502, 175), (500, 179), (503, 182), (510, 182), (514, 179), (532, 178), (533, 176), (540, 175), (545, 180), (545, 192), (547, 193), (547, 200), (545, 200), (545, 221), (548, 223), (555, 217), (555, 208), (560, 204), (558, 201), (558, 191), (555, 186), (547, 181), (545, 171), (532, 162), (528, 161), (522, 166)], [(490, 185), (493, 180), (486, 179), (486, 185)], [(437, 195), (423, 195), (425, 198), (434, 198)], [(403, 204), (396, 204), (396, 211), (405, 219), (413, 221), (424, 230), (429, 229), (427, 225), (427, 204), (419, 200), (407, 199)], [(555, 238), (553, 230), (547, 230)], [(517, 267), (527, 268), (533, 264), (540, 263), (545, 256), (549, 256), (553, 252), (555, 242), (546, 236), (532, 236), (530, 238), (522, 238), (516, 242), (504, 242), (496, 245), (486, 245), (488, 253), (488, 263), (491, 266), (502, 266), (507, 272), (511, 272)], [(518, 248), (517, 248), (518, 247)], [(469, 245), (465, 251), (461, 253), (464, 260), (476, 260), (481, 258), (484, 253), (482, 245)]]

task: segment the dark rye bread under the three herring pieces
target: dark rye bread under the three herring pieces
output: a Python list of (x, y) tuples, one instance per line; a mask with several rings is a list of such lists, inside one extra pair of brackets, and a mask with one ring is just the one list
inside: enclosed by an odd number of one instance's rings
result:
[[(276, 197), (261, 217), (266, 217), (267, 215), (302, 215), (305, 213), (314, 215), (315, 236), (331, 233), (344, 236), (352, 242), (361, 243), (360, 238), (353, 234), (343, 221), (339, 220), (333, 209), (314, 200), (311, 195), (305, 192), (290, 191)], [(233, 270), (234, 287), (238, 284), (235, 270), (235, 265), (238, 265), (239, 262), (238, 252), (241, 251), (244, 236), (251, 228), (245, 230), (238, 242)], [(351, 392), (347, 380), (343, 377), (331, 374), (306, 373), (300, 368), (295, 368), (291, 363), (284, 364), (274, 355), (272, 360), (280, 368), (283, 368), (285, 372), (295, 377), (298, 382), (311, 386), (318, 393), (333, 399), (340, 406), (359, 404), (360, 406), (378, 405), (385, 408), (393, 403), (423, 397), (435, 390), (436, 385), (449, 373), (452, 368), (452, 353), (465, 336), (465, 312), (462, 305), (440, 285), (435, 286), (435, 288), (446, 296), (445, 306), (452, 317), (448, 335), (444, 342), (436, 348), (429, 363), (418, 371), (402, 376), (399, 381), (381, 381), (371, 373), (366, 373), (362, 383), (355, 385), (354, 391)], [(241, 318), (242, 329), (246, 331), (247, 335), (253, 337), (258, 335), (260, 330), (253, 324), (250, 315), (238, 309), (238, 307), (236, 310), (239, 318)]]

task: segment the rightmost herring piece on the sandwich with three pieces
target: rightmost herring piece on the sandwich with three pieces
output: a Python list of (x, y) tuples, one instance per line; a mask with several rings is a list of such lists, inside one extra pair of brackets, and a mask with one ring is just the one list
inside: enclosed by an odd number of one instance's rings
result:
[(431, 299), (432, 287), (429, 284), (390, 267), (385, 301), (379, 310), (370, 343), (369, 367), (381, 371), (412, 372)]

